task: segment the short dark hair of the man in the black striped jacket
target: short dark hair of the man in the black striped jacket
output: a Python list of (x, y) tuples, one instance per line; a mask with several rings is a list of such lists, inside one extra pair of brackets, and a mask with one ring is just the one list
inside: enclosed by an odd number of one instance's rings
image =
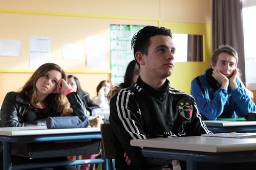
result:
[[(166, 29), (164, 27), (155, 27), (155, 26), (146, 26), (140, 31), (138, 31), (132, 38), (132, 51), (134, 54), (136, 52), (141, 52), (147, 55), (148, 46), (150, 46), (150, 38), (156, 35), (166, 35), (172, 37), (172, 33), (169, 29)], [(140, 67), (138, 61), (135, 58), (136, 63)]]

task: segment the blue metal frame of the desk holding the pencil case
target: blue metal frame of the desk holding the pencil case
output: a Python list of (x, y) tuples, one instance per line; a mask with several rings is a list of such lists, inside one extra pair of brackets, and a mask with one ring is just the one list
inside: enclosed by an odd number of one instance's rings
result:
[[(4, 152), (4, 170), (15, 169), (33, 169), (35, 167), (54, 167), (54, 166), (66, 166), (66, 165), (80, 165), (80, 164), (92, 164), (102, 163), (102, 169), (108, 170), (108, 162), (102, 153), (102, 159), (84, 159), (75, 161), (61, 161), (61, 162), (49, 162), (49, 163), (33, 163), (33, 164), (20, 164), (11, 165), (11, 150), (10, 143), (30, 143), (30, 142), (49, 142), (49, 141), (75, 141), (81, 139), (101, 139), (100, 132), (84, 132), (84, 133), (68, 133), (68, 134), (53, 134), (53, 135), (29, 135), (29, 136), (5, 136), (0, 135), (0, 140), (3, 141)], [(68, 156), (68, 155), (67, 155)]]

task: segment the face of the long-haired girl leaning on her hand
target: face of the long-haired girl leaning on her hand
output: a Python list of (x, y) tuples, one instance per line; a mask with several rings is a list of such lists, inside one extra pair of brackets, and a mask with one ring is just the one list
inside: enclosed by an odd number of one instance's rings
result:
[(52, 93), (61, 79), (61, 73), (57, 70), (50, 70), (36, 81), (36, 89), (39, 95), (47, 96)]

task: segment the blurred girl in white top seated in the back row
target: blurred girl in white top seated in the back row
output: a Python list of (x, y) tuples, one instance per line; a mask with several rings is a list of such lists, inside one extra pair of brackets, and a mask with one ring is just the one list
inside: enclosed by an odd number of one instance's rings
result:
[(110, 86), (110, 81), (102, 80), (96, 88), (97, 96), (94, 96), (92, 100), (99, 105), (100, 108), (109, 108), (110, 106)]

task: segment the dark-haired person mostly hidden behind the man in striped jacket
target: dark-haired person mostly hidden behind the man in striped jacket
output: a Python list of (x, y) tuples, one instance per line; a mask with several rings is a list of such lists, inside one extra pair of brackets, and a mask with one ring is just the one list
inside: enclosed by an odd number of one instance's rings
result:
[(139, 66), (136, 64), (135, 60), (132, 60), (126, 67), (123, 83), (120, 83), (112, 90), (111, 96), (114, 96), (118, 91), (120, 91), (123, 88), (132, 86), (137, 81), (139, 76)]

